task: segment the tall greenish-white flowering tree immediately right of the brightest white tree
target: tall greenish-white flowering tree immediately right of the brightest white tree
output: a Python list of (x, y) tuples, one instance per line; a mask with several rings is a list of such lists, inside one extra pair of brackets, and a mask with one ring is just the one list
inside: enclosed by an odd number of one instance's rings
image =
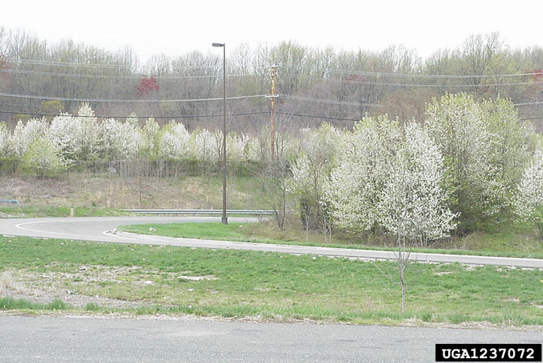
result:
[(448, 167), (446, 183), (452, 207), (461, 212), (465, 231), (474, 222), (495, 217), (503, 205), (503, 184), (491, 162), (489, 120), (481, 105), (465, 93), (434, 99), (426, 108), (426, 126)]

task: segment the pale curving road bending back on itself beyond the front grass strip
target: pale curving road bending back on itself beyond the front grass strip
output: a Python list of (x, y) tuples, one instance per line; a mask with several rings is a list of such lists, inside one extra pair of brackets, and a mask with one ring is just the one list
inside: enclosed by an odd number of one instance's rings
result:
[[(251, 222), (255, 218), (230, 218), (230, 221)], [(329, 255), (348, 258), (395, 259), (390, 251), (356, 250), (346, 248), (325, 248), (310, 246), (273, 245), (267, 243), (246, 243), (211, 241), (194, 238), (170, 238), (161, 236), (139, 236), (136, 234), (113, 234), (116, 227), (125, 224), (172, 223), (188, 221), (220, 221), (218, 217), (81, 217), (81, 218), (35, 218), (0, 219), (0, 234), (35, 236), (42, 238), (69, 238), (83, 241), (114, 243), (141, 243), (200, 248), (231, 248), (236, 250), (261, 250), (279, 253)], [(532, 258), (499, 258), (469, 255), (442, 255), (437, 253), (411, 253), (411, 260), (468, 263), (474, 265), (506, 265), (517, 267), (543, 268), (543, 260)]]

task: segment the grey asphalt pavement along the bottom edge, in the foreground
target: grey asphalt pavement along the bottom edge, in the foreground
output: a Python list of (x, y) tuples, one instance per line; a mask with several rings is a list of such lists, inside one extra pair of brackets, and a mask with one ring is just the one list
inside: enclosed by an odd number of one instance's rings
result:
[(194, 318), (0, 316), (0, 362), (435, 362), (436, 343), (542, 343), (505, 330)]

